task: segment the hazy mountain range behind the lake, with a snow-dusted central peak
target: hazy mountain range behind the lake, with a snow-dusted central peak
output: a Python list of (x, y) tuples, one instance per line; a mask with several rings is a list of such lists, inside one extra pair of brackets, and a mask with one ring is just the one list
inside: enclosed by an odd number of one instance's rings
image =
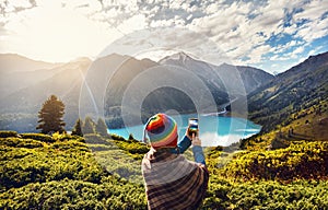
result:
[[(316, 66), (314, 60), (326, 60), (327, 63), (326, 57), (314, 56), (304, 63)], [(180, 114), (191, 113), (197, 108), (206, 112), (212, 104), (206, 100), (198, 103), (190, 94), (201, 98), (200, 96), (204, 97), (211, 93), (216, 110), (246, 94), (254, 114), (251, 117), (257, 118), (255, 110), (260, 108), (258, 104), (263, 104), (260, 97), (262, 91), (273, 84), (290, 86), (298, 77), (307, 80), (308, 73), (293, 73), (300, 68), (298, 71), (304, 71), (303, 62), (273, 77), (251, 67), (227, 63), (214, 66), (185, 52), (165, 57), (157, 62), (117, 54), (94, 61), (80, 58), (68, 63), (34, 61), (17, 55), (0, 55), (0, 60), (3, 61), (0, 62), (0, 129), (21, 132), (35, 131), (37, 112), (51, 94), (59, 96), (66, 104), (65, 121), (68, 130), (79, 117), (93, 114), (95, 109), (98, 116), (106, 117), (109, 126), (119, 127), (122, 114), (138, 118), (140, 107), (141, 117), (147, 118), (167, 109), (175, 109)], [(321, 81), (325, 80), (326, 78), (321, 77)], [(166, 82), (172, 85), (164, 85)], [(282, 88), (270, 93), (271, 97), (280, 95), (280, 90)], [(92, 95), (92, 102), (87, 94)], [(266, 98), (269, 98), (270, 94), (268, 93)], [(127, 98), (128, 103), (124, 103)], [(136, 104), (139, 105), (137, 110), (133, 109)], [(122, 105), (128, 106), (126, 113), (121, 110)], [(131, 124), (136, 120), (133, 117)]]

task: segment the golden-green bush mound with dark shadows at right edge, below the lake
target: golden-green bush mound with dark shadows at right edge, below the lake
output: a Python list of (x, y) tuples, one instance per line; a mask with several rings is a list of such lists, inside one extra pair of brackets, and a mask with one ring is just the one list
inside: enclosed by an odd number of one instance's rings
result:
[(249, 152), (229, 163), (222, 174), (243, 179), (328, 177), (328, 142), (294, 142), (286, 149)]

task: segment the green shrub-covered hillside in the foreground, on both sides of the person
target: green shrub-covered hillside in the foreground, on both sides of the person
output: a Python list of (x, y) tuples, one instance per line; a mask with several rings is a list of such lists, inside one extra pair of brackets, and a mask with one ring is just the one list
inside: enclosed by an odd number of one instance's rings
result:
[[(0, 209), (147, 208), (143, 184), (134, 180), (142, 180), (149, 148), (136, 140), (0, 136)], [(207, 148), (206, 154), (210, 183), (202, 209), (328, 209), (327, 141), (297, 140), (271, 151)]]

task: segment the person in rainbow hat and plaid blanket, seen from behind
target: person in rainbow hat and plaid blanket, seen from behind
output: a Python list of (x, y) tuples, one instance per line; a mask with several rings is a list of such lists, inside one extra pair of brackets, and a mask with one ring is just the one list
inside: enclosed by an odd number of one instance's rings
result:
[[(197, 209), (209, 182), (198, 136), (190, 137), (186, 132), (177, 143), (175, 120), (165, 114), (156, 114), (145, 124), (143, 139), (151, 145), (142, 160), (149, 209)], [(195, 162), (181, 155), (191, 144)]]

